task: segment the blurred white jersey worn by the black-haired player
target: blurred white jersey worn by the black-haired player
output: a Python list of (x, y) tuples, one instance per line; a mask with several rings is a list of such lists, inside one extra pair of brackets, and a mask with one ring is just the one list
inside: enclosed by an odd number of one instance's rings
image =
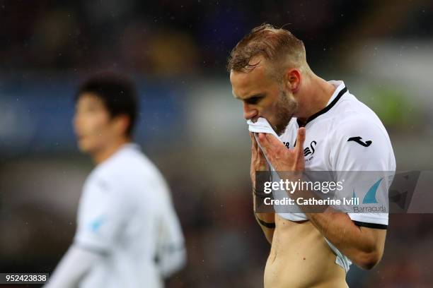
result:
[(137, 145), (125, 144), (88, 176), (74, 244), (103, 255), (80, 287), (161, 287), (185, 261), (168, 186)]

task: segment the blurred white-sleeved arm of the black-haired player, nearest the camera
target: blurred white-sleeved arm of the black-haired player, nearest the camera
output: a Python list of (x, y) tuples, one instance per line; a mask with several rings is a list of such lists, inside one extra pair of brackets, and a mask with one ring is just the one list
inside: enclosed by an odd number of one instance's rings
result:
[[(85, 186), (74, 244), (54, 271), (48, 288), (78, 287), (86, 273), (110, 253), (115, 236), (125, 226), (125, 200), (119, 197), (114, 183), (103, 180), (92, 180)], [(87, 198), (88, 193), (96, 197)], [(81, 206), (87, 207), (88, 211), (81, 210)]]

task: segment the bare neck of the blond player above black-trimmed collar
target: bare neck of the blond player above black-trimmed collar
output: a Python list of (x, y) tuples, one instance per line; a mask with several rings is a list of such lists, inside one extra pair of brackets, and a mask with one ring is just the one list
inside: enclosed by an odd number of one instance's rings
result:
[(308, 117), (325, 108), (330, 97), (335, 92), (334, 85), (315, 74), (312, 74), (308, 81), (310, 83), (306, 85), (306, 89), (303, 91), (304, 95), (300, 97), (302, 104), (299, 116), (297, 117), (300, 121), (306, 121)]

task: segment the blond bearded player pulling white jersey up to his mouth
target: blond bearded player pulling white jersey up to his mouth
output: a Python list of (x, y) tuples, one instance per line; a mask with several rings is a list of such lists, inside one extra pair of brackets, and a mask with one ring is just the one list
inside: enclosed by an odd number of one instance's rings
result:
[[(395, 171), (379, 118), (341, 80), (316, 76), (291, 32), (254, 28), (231, 52), (228, 70), (243, 116), (267, 119), (279, 138), (250, 133), (253, 191), (256, 171), (270, 165), (287, 172)], [(391, 181), (383, 179), (386, 191)], [(381, 259), (388, 214), (303, 212), (255, 213), (271, 244), (265, 287), (347, 287), (351, 262), (371, 269)]]

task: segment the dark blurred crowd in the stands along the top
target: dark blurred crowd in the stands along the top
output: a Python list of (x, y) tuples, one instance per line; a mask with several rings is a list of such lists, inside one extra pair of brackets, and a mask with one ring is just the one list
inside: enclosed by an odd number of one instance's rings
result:
[(233, 45), (264, 22), (284, 25), (304, 40), (313, 66), (329, 64), (328, 57), (341, 57), (366, 38), (420, 39), (433, 32), (432, 2), (425, 0), (0, 3), (6, 75), (95, 68), (149, 77), (221, 74)]

